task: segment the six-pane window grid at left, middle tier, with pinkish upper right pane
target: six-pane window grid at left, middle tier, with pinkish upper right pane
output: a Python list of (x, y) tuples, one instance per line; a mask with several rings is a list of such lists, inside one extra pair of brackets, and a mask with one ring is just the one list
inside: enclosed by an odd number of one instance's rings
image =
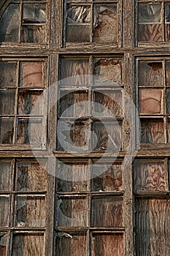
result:
[(0, 143), (45, 148), (45, 61), (0, 61)]

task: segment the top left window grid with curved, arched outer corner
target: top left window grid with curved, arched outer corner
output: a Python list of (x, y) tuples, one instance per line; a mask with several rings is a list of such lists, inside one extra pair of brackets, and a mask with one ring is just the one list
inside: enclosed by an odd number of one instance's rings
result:
[(46, 1), (10, 1), (0, 18), (0, 42), (42, 44), (46, 37)]

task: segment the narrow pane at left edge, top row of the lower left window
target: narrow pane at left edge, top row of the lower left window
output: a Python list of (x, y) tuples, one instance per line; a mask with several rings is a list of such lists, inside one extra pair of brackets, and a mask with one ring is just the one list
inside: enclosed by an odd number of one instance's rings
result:
[(12, 163), (9, 161), (0, 162), (0, 190), (12, 190)]

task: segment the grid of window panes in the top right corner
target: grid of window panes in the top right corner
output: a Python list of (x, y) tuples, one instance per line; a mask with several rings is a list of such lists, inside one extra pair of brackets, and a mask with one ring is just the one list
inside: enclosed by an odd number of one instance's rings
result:
[(137, 19), (139, 42), (169, 42), (169, 1), (138, 1)]

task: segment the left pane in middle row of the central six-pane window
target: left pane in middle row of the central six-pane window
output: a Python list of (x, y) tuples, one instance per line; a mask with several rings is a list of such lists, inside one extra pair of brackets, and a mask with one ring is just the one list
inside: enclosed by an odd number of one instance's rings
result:
[(87, 91), (61, 91), (58, 102), (59, 116), (85, 117), (89, 113)]

